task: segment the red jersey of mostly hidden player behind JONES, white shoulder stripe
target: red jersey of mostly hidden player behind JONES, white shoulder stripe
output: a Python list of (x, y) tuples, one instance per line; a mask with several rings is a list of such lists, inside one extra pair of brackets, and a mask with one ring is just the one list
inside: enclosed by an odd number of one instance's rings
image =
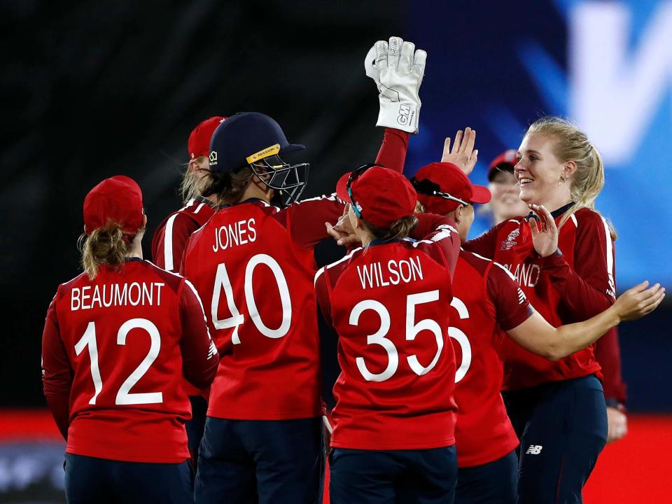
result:
[[(156, 228), (152, 239), (152, 258), (155, 265), (171, 272), (179, 272), (187, 240), (214, 213), (215, 210), (208, 200), (198, 198), (189, 200), (184, 207), (167, 216)], [(207, 388), (196, 388), (187, 380), (183, 380), (182, 385), (187, 395), (200, 395), (207, 400)]]

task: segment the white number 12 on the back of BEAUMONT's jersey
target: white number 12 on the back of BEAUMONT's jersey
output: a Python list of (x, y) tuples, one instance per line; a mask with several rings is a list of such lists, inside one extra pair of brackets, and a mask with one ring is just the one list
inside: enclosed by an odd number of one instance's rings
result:
[[(151, 346), (149, 353), (142, 360), (140, 365), (132, 372), (124, 383), (119, 387), (117, 396), (114, 401), (116, 405), (136, 405), (136, 404), (156, 404), (163, 402), (162, 392), (145, 392), (145, 393), (130, 393), (132, 386), (137, 384), (139, 379), (147, 372), (154, 360), (159, 355), (161, 348), (161, 336), (159, 330), (151, 321), (146, 318), (132, 318), (126, 321), (119, 328), (117, 332), (117, 344), (125, 345), (126, 337), (132, 329), (144, 329), (151, 338)], [(96, 343), (96, 323), (91, 321), (86, 326), (84, 335), (75, 344), (75, 353), (80, 355), (87, 348), (89, 350), (89, 358), (91, 361), (91, 377), (93, 379), (94, 394), (89, 404), (94, 405), (98, 394), (103, 389), (103, 380), (100, 376), (100, 367), (98, 365), (98, 345)]]

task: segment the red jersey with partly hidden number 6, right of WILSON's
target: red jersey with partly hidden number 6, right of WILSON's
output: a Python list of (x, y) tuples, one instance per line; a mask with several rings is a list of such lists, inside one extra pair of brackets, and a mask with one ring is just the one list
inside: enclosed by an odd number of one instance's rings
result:
[(518, 446), (500, 390), (502, 330), (526, 321), (533, 309), (505, 267), (461, 251), (453, 279), (450, 328), (455, 374), (458, 467), (502, 458)]

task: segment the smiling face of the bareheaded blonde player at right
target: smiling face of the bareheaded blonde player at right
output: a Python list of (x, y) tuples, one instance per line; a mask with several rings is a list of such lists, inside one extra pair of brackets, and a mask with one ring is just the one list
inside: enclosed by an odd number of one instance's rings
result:
[(555, 142), (556, 139), (548, 134), (526, 134), (518, 148), (515, 167), (520, 199), (526, 203), (543, 204), (550, 210), (571, 201), (570, 176), (575, 169), (573, 162), (556, 158)]

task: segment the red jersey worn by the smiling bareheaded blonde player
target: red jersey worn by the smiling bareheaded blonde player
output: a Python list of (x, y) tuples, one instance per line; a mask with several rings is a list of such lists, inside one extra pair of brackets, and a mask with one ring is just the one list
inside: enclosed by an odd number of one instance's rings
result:
[[(553, 212), (556, 223), (569, 208), (567, 205)], [(555, 327), (584, 321), (615, 301), (614, 246), (608, 224), (590, 209), (580, 209), (560, 229), (562, 255), (540, 258), (524, 218), (498, 224), (468, 241), (465, 248), (505, 265), (533, 307)], [(505, 390), (583, 377), (600, 370), (592, 345), (557, 362), (527, 351), (507, 337), (502, 347)]]

